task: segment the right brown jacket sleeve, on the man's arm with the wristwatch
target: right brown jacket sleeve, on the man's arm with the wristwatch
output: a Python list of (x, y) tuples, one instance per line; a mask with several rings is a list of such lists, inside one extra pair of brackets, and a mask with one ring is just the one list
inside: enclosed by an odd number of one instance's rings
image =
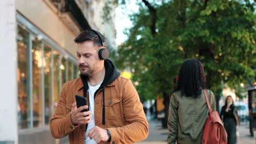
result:
[(111, 134), (110, 143), (135, 143), (147, 138), (148, 122), (139, 100), (138, 93), (130, 80), (123, 86), (123, 113), (128, 125), (119, 128), (108, 128)]

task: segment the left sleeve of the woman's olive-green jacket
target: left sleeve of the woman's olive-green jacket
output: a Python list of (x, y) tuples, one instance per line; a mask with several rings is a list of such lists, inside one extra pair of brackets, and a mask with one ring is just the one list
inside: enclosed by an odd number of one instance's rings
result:
[(168, 116), (168, 144), (175, 144), (178, 134), (178, 104), (174, 94), (170, 98), (169, 116)]

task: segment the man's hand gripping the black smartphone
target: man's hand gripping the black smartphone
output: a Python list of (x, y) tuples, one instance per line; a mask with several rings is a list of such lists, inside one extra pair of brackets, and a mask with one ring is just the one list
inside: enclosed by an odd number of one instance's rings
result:
[(88, 105), (80, 106), (77, 109), (77, 103), (72, 104), (71, 123), (73, 125), (88, 124), (91, 121), (91, 112), (90, 111), (81, 112), (86, 109), (88, 109)]

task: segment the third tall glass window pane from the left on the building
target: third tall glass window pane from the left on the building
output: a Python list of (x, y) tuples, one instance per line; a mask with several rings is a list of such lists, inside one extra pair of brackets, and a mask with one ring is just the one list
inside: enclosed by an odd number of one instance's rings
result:
[(51, 49), (44, 45), (44, 119), (49, 124), (51, 117)]

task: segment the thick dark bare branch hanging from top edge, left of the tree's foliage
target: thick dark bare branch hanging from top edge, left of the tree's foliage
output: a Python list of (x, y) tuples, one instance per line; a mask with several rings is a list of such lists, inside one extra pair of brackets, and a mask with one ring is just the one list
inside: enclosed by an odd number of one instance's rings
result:
[(152, 5), (150, 5), (150, 3), (148, 1), (142, 0), (142, 2), (148, 7), (149, 13), (152, 16), (150, 31), (151, 31), (151, 34), (153, 35), (153, 37), (155, 37), (155, 35), (156, 35), (155, 25), (156, 25), (156, 20), (158, 19), (158, 17), (156, 16), (156, 9), (154, 7), (152, 7)]

